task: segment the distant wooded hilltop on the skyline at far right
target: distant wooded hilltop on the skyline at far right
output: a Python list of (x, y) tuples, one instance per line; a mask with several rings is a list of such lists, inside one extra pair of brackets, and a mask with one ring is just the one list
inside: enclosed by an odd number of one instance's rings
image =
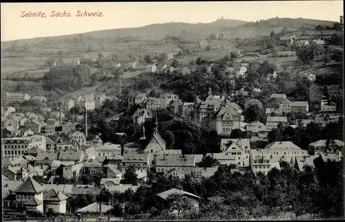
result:
[(264, 28), (264, 27), (282, 27), (286, 26), (288, 28), (311, 28), (314, 29), (315, 26), (333, 26), (335, 21), (323, 21), (315, 19), (290, 19), (290, 18), (273, 18), (259, 21), (252, 21), (245, 23), (240, 27), (244, 28)]

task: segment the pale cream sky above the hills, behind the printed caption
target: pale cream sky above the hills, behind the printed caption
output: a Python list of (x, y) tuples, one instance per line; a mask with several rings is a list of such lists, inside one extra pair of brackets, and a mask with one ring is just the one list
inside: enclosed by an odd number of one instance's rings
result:
[[(101, 12), (99, 17), (77, 17), (77, 11)], [(22, 17), (44, 12), (46, 17)], [(52, 11), (71, 17), (50, 17)], [(203, 1), (116, 3), (1, 3), (1, 41), (133, 28), (154, 23), (210, 23), (216, 19), (257, 21), (273, 17), (339, 21), (343, 1)]]

